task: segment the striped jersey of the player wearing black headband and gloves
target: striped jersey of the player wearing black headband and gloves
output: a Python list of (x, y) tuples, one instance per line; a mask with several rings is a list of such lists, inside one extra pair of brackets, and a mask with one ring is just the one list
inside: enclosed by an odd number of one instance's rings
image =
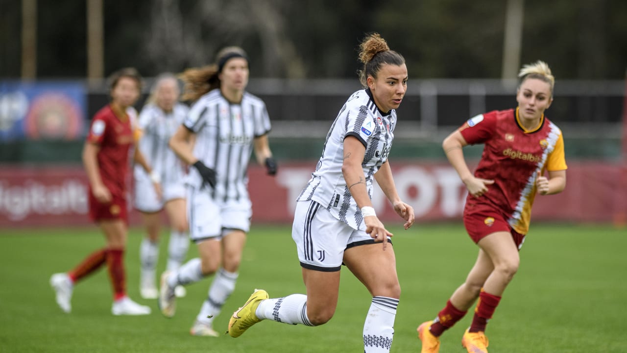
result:
[[(270, 131), (270, 117), (263, 100), (244, 92), (240, 104), (226, 100), (219, 89), (203, 95), (191, 107), (184, 126), (196, 133), (194, 156), (216, 171), (215, 200), (226, 202), (248, 198), (248, 161), (253, 139)], [(202, 186), (196, 168), (187, 182)]]

